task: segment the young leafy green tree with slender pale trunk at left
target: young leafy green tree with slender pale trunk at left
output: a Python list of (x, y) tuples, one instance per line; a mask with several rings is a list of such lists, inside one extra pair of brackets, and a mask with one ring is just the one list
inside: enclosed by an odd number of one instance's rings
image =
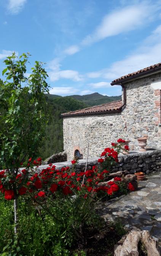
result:
[[(18, 190), (23, 186), (16, 181), (19, 166), (32, 156), (36, 157), (45, 134), (47, 123), (46, 99), (48, 77), (43, 63), (35, 61), (32, 74), (27, 78), (26, 64), (29, 53), (23, 53), (19, 59), (15, 55), (6, 58), (6, 68), (0, 79), (0, 166), (6, 169), (8, 187), (6, 197), (14, 199), (15, 234), (18, 232)], [(30, 162), (24, 180), (28, 175)], [(2, 177), (3, 178), (3, 177)]]

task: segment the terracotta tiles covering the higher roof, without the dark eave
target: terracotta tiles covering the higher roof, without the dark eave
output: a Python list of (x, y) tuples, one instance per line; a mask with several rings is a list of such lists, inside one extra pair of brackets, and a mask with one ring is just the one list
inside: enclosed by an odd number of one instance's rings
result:
[(124, 79), (127, 79), (127, 78), (131, 78), (131, 77), (135, 77), (135, 76), (140, 76), (140, 75), (142, 75), (144, 72), (153, 71), (153, 70), (156, 69), (157, 67), (160, 67), (160, 68), (161, 68), (161, 62), (158, 63), (158, 64), (155, 64), (155, 65), (152, 65), (152, 66), (150, 66), (150, 67), (145, 67), (144, 69), (140, 69), (140, 70), (138, 70), (138, 71), (136, 71), (136, 72), (133, 72), (133, 73), (131, 73), (131, 74), (128, 74), (128, 75), (124, 75), (124, 76), (122, 76), (122, 77), (119, 77), (119, 78), (113, 80), (112, 83), (111, 83), (111, 85), (112, 85), (113, 83), (120, 82), (120, 81), (122, 81), (122, 80), (124, 80)]

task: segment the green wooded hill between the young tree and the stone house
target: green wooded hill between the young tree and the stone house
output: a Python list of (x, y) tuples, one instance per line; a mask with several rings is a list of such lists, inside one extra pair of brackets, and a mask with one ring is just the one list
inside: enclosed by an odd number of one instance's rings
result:
[(58, 96), (46, 94), (49, 122), (46, 127), (46, 139), (40, 149), (43, 159), (63, 151), (62, 113), (100, 105), (121, 99), (121, 96), (103, 96), (99, 93), (88, 95)]

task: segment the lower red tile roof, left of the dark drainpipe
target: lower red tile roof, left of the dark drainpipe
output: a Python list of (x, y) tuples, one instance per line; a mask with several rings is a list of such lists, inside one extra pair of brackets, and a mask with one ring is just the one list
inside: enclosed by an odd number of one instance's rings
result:
[(68, 116), (78, 116), (78, 115), (105, 114), (109, 112), (120, 112), (122, 105), (123, 105), (122, 100), (113, 101), (113, 102), (102, 104), (99, 106), (88, 107), (86, 109), (67, 112), (67, 113), (61, 114), (61, 116), (68, 117)]

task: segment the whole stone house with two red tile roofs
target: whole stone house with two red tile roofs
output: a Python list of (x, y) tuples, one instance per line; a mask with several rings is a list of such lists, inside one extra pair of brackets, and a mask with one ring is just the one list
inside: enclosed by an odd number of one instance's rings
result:
[(129, 139), (131, 150), (137, 138), (148, 135), (147, 147), (161, 147), (161, 63), (124, 75), (111, 85), (122, 86), (122, 100), (62, 114), (64, 150), (74, 155), (99, 156), (118, 138)]

